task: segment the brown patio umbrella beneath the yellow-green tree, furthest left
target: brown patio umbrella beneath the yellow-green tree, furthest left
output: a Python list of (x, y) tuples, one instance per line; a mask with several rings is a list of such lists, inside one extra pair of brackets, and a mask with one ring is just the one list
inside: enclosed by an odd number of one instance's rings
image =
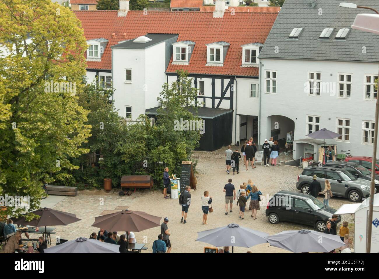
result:
[[(54, 210), (51, 208), (41, 208), (39, 210), (32, 211), (30, 213), (39, 215), (39, 219), (32, 219), (31, 221), (26, 221), (25, 217), (12, 218), (15, 224), (29, 225), (32, 227), (46, 227), (47, 226), (66, 226), (71, 223), (81, 221), (81, 219), (76, 218), (75, 214), (67, 213), (64, 211)], [(25, 213), (24, 215), (26, 215)]]

